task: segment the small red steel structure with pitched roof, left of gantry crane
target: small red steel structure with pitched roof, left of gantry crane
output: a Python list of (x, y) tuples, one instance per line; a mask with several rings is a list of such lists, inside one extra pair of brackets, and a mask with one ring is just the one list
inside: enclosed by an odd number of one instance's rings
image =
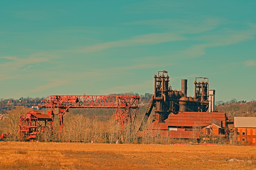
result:
[(52, 122), (52, 118), (47, 114), (31, 110), (25, 116), (20, 114), (19, 118), (19, 136), (20, 139), (33, 140), (36, 135), (42, 133), (44, 128), (49, 128), (48, 124)]

